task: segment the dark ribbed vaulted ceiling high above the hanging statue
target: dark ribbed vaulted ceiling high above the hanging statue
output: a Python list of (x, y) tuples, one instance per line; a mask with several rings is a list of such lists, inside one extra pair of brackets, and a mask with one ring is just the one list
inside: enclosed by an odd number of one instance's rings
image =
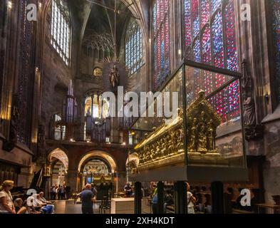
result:
[[(93, 4), (95, 2), (97, 4)], [(142, 30), (148, 26), (148, 9), (150, 0), (116, 0), (118, 16), (117, 16), (117, 43), (125, 29), (125, 21), (132, 15), (139, 19)], [(115, 0), (68, 0), (71, 7), (71, 15), (75, 21), (74, 26), (79, 31), (80, 43), (87, 30), (95, 33), (112, 33), (114, 31), (114, 12)], [(98, 6), (98, 4), (108, 7), (108, 9)], [(110, 22), (109, 22), (110, 19)], [(145, 34), (144, 34), (145, 38)]]

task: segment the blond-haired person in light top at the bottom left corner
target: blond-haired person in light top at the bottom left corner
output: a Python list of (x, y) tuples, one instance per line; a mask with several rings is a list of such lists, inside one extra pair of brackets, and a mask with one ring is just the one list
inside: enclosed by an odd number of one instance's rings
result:
[(5, 180), (0, 187), (0, 214), (16, 214), (10, 192), (13, 187), (14, 181), (12, 180)]

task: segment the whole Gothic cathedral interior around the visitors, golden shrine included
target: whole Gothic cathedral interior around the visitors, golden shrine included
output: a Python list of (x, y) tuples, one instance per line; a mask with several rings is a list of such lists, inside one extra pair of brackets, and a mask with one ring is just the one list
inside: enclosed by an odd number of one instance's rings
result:
[(14, 199), (280, 213), (279, 0), (1, 0), (0, 33)]

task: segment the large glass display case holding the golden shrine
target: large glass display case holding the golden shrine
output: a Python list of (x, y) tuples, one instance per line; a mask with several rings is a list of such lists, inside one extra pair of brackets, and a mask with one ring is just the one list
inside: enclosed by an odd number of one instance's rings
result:
[[(163, 110), (177, 107), (177, 115), (135, 121), (131, 130), (150, 133), (135, 146), (139, 165), (132, 180), (247, 180), (242, 74), (185, 61), (159, 92)], [(150, 105), (157, 110), (156, 104)]]

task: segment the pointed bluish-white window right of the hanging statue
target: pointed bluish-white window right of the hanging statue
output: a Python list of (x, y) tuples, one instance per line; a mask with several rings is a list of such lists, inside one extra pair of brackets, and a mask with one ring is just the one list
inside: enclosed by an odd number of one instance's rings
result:
[(130, 75), (142, 66), (142, 31), (135, 19), (130, 19), (125, 34), (125, 65)]

